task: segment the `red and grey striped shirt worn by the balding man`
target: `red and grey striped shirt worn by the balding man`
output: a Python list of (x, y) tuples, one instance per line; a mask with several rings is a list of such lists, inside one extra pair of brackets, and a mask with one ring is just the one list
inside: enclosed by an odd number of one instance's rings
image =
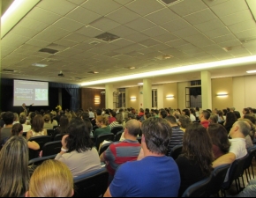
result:
[(140, 143), (137, 140), (125, 139), (123, 142), (111, 143), (103, 154), (105, 161), (109, 162), (106, 166), (109, 174), (114, 176), (119, 165), (137, 160), (140, 148)]

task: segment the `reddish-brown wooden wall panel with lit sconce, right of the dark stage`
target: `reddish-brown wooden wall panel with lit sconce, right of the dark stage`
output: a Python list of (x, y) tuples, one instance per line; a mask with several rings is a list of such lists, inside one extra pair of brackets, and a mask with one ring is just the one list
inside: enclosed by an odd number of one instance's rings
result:
[[(82, 88), (81, 89), (82, 109), (86, 110), (89, 107), (92, 107), (93, 109), (104, 108), (105, 107), (105, 95), (102, 95), (101, 92), (105, 92), (105, 90)], [(100, 104), (94, 104), (94, 97), (100, 97), (100, 99), (101, 99)]]

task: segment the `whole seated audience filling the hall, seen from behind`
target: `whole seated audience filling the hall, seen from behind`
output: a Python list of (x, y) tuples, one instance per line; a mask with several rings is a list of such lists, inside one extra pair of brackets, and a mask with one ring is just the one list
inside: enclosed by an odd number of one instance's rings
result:
[[(109, 172), (104, 196), (182, 196), (215, 167), (246, 156), (256, 137), (255, 114), (250, 107), (242, 115), (234, 107), (2, 112), (0, 196), (72, 196), (73, 178), (102, 165)], [(29, 169), (28, 149), (41, 150), (31, 137), (48, 136), (53, 128), (53, 136), (64, 135), (61, 150), (55, 160)], [(99, 155), (94, 140), (114, 128), (123, 128), (122, 136)], [(183, 150), (173, 159), (177, 145)], [(255, 183), (237, 196), (255, 197)]]

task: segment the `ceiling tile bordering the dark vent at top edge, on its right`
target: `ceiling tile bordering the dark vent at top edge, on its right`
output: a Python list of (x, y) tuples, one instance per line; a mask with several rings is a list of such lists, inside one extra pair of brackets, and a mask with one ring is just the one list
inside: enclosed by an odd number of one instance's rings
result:
[(169, 9), (177, 13), (179, 16), (184, 17), (185, 15), (191, 14), (196, 11), (201, 11), (207, 8), (201, 0), (184, 0), (180, 3), (169, 6)]

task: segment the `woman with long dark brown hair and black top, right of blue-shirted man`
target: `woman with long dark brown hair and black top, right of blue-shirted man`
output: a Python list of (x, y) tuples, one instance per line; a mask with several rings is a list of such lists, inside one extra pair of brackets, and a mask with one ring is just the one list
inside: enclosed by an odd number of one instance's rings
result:
[(200, 123), (192, 123), (186, 128), (183, 154), (176, 159), (181, 179), (179, 195), (182, 195), (187, 187), (207, 178), (212, 172), (212, 145), (207, 129)]

